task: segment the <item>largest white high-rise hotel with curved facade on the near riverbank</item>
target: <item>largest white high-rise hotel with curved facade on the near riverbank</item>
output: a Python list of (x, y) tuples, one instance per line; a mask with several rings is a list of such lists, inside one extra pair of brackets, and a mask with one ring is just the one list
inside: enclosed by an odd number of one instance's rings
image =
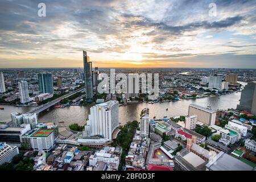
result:
[(112, 140), (112, 133), (119, 126), (118, 107), (118, 101), (108, 101), (90, 107), (84, 137), (101, 136), (106, 141)]

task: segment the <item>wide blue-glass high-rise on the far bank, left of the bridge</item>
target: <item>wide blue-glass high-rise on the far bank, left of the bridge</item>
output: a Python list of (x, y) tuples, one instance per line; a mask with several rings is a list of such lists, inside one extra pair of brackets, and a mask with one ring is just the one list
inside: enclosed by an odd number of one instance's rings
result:
[(51, 73), (38, 73), (39, 90), (42, 93), (53, 93), (53, 81)]

